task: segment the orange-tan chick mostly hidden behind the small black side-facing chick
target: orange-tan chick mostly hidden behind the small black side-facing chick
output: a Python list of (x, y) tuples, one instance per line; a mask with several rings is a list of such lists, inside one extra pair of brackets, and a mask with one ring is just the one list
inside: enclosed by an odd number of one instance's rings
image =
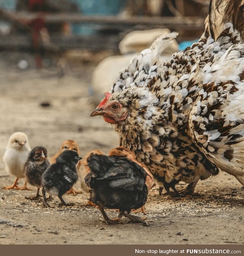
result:
[[(77, 144), (77, 142), (73, 141), (72, 139), (67, 139), (66, 141), (64, 141), (62, 143), (62, 146), (60, 147), (58, 153), (55, 154), (55, 156), (53, 156), (51, 158), (51, 164), (55, 164), (56, 163), (56, 158), (65, 150), (72, 150), (72, 151), (76, 151), (78, 153), (78, 155), (80, 155), (80, 149), (79, 149), (79, 145)], [(78, 162), (78, 164), (76, 165), (76, 169), (77, 171), (79, 170), (80, 167), (80, 161)], [(79, 194), (82, 193), (80, 191), (76, 191), (74, 190), (74, 188), (71, 188), (71, 190), (67, 191), (68, 194)]]

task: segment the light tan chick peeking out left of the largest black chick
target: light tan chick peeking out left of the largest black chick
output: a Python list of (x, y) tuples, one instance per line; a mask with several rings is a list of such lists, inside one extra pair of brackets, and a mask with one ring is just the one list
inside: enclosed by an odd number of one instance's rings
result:
[[(87, 174), (90, 172), (90, 168), (88, 167), (87, 164), (87, 158), (92, 155), (92, 154), (98, 154), (98, 155), (104, 155), (102, 151), (99, 149), (94, 149), (90, 152), (88, 152), (85, 157), (83, 157), (82, 160), (80, 160), (80, 167), (78, 169), (78, 175), (80, 179), (80, 185), (83, 191), (89, 193), (90, 188), (85, 184), (85, 177)], [(86, 206), (96, 206), (95, 204), (92, 203), (92, 201), (88, 200)]]

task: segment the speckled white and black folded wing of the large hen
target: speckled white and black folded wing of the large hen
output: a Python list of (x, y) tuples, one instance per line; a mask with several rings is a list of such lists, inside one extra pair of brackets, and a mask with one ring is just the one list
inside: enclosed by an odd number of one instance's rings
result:
[(236, 44), (216, 62), (192, 74), (188, 134), (220, 169), (244, 175), (244, 45)]

